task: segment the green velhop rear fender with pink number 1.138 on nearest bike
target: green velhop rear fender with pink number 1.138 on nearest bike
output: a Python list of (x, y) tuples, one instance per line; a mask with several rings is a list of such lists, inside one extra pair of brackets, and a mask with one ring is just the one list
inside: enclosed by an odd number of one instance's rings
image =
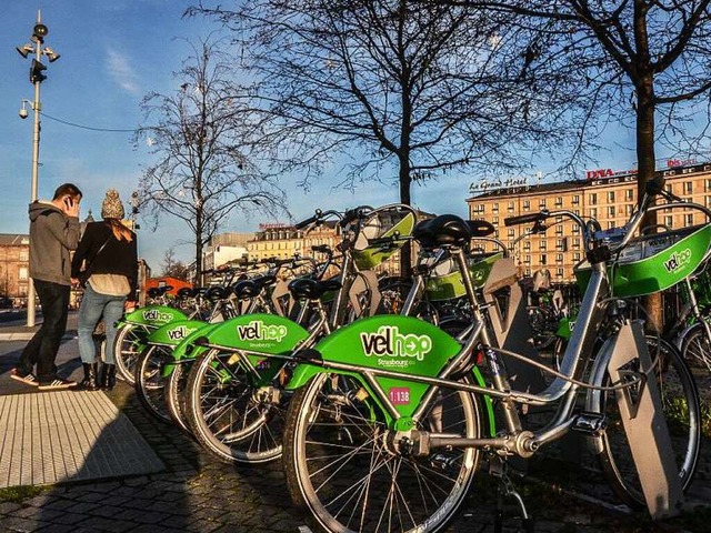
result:
[[(377, 376), (375, 381), (400, 415), (411, 416), (429, 385), (408, 378), (437, 376), (461, 345), (429, 322), (410, 316), (377, 315), (339, 329), (322, 339), (314, 350), (323, 363), (356, 366), (351, 371), (354, 374), (358, 366), (401, 374), (401, 378)], [(317, 359), (301, 361), (303, 364), (294, 370), (288, 389), (298, 389), (324, 371)]]

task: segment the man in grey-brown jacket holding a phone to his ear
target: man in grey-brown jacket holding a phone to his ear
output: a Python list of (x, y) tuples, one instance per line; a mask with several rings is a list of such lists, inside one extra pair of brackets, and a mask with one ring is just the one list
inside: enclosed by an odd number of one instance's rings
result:
[(79, 243), (80, 202), (79, 188), (64, 183), (54, 191), (51, 202), (30, 203), (30, 278), (42, 306), (42, 325), (24, 346), (11, 378), (39, 385), (40, 390), (76, 384), (57, 375), (54, 361), (67, 330), (71, 289), (69, 252)]

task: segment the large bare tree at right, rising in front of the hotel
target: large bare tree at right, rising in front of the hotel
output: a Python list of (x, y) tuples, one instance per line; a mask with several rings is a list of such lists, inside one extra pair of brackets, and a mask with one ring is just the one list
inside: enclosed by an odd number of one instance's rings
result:
[[(443, 3), (514, 14), (511, 23), (529, 32), (528, 42), (519, 43), (524, 83), (540, 86), (539, 79), (557, 73), (558, 80), (568, 79), (565, 86), (578, 93), (579, 102), (589, 102), (589, 123), (612, 121), (632, 128), (640, 195), (654, 179), (657, 143), (694, 150), (707, 138), (710, 0)], [(588, 133), (601, 131), (604, 128)]]

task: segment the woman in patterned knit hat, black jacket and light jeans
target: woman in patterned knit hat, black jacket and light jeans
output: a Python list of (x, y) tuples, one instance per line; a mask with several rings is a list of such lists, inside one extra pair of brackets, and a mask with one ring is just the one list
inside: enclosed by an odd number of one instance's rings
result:
[[(84, 282), (77, 328), (84, 379), (77, 390), (111, 390), (116, 384), (112, 349), (116, 323), (123, 316), (124, 306), (136, 304), (138, 281), (136, 233), (121, 222), (123, 215), (119, 193), (109, 189), (101, 205), (103, 221), (87, 224), (71, 263), (72, 281)], [(99, 374), (93, 331), (101, 319), (106, 328), (107, 350)]]

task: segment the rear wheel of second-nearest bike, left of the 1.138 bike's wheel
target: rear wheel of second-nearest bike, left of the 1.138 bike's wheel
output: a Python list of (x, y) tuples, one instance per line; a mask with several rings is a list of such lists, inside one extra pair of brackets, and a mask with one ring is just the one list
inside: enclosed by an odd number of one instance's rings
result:
[[(283, 408), (261, 402), (238, 364), (212, 349), (192, 363), (187, 420), (198, 442), (226, 463), (264, 463), (281, 455)], [(231, 354), (229, 354), (231, 355)]]

